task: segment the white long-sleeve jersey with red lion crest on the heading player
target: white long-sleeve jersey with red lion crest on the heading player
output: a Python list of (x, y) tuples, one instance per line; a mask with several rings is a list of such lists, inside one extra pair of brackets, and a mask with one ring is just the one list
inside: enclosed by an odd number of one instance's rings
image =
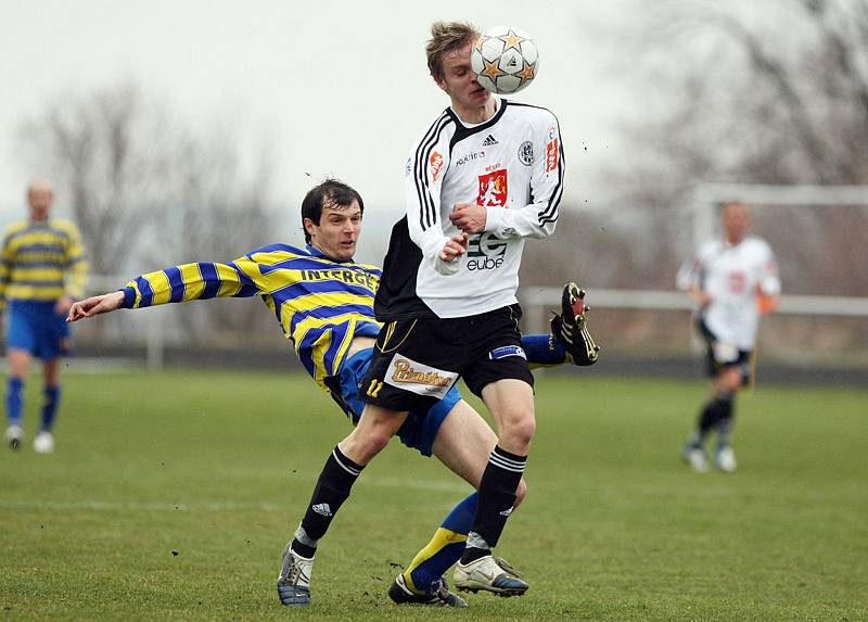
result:
[[(487, 122), (467, 125), (447, 109), (416, 141), (406, 167), (407, 215), (392, 231), (376, 294), (378, 318), (464, 317), (516, 302), (525, 238), (554, 231), (564, 157), (546, 109), (497, 99)], [(467, 255), (439, 259), (456, 203), (486, 208)]]

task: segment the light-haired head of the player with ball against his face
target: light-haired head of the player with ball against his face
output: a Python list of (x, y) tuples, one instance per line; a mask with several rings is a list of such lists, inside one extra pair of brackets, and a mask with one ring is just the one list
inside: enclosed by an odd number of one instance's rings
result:
[(451, 98), (454, 107), (484, 105), (490, 97), (470, 65), (473, 43), (482, 36), (473, 24), (435, 22), (425, 46), (431, 77)]

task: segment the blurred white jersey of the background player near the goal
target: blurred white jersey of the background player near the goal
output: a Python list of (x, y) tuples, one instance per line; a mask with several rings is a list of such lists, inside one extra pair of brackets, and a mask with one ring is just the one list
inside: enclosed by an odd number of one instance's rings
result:
[(711, 296), (701, 309), (705, 326), (722, 342), (753, 350), (760, 309), (757, 293), (780, 293), (778, 266), (765, 240), (749, 237), (738, 244), (714, 240), (702, 244), (678, 270), (678, 288), (691, 285)]

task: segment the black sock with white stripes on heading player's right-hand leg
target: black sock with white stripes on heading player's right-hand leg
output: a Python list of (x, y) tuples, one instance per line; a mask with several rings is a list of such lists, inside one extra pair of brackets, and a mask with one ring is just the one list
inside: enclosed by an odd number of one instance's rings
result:
[(527, 456), (510, 454), (499, 446), (488, 457), (488, 465), (480, 482), (480, 500), (476, 516), (468, 534), (468, 544), (461, 563), (470, 563), (489, 555), (512, 513), (515, 490), (519, 487)]

